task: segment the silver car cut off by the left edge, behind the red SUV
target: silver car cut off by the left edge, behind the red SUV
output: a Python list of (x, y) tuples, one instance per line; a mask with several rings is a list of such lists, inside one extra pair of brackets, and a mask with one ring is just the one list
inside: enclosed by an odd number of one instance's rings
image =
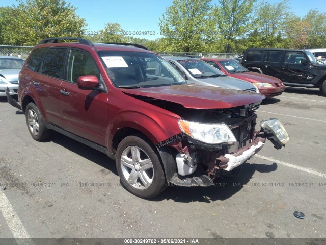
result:
[(0, 96), (6, 96), (6, 88), (11, 95), (17, 94), (18, 75), (24, 60), (14, 56), (0, 56)]

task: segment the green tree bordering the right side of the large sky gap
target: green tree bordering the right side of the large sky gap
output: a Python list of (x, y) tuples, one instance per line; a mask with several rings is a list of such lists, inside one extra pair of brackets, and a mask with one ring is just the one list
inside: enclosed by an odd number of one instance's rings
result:
[(173, 0), (159, 18), (159, 28), (168, 41), (167, 51), (200, 51), (211, 12), (211, 0)]

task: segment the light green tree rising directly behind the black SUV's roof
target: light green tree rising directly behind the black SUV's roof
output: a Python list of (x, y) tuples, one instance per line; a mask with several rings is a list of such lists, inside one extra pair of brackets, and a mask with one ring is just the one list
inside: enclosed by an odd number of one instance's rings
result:
[[(256, 7), (254, 26), (257, 27), (262, 45), (265, 47), (284, 47), (287, 23), (294, 14), (289, 11), (288, 0), (270, 4), (260, 2)], [(257, 36), (256, 36), (257, 38)]]

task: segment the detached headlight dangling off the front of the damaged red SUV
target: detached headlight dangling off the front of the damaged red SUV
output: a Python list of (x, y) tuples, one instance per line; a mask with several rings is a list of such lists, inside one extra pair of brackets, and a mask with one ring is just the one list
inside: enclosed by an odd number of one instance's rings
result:
[(262, 120), (260, 126), (276, 149), (281, 149), (289, 141), (289, 136), (278, 119)]

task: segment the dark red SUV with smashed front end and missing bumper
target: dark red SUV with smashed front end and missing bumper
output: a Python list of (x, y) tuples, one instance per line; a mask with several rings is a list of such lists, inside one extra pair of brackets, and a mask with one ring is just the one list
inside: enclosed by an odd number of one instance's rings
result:
[(167, 183), (210, 186), (266, 138), (277, 149), (288, 141), (277, 119), (255, 130), (264, 96), (188, 85), (164, 58), (132, 45), (44, 39), (20, 72), (19, 104), (8, 101), (24, 112), (35, 140), (55, 130), (107, 154), (142, 198)]

